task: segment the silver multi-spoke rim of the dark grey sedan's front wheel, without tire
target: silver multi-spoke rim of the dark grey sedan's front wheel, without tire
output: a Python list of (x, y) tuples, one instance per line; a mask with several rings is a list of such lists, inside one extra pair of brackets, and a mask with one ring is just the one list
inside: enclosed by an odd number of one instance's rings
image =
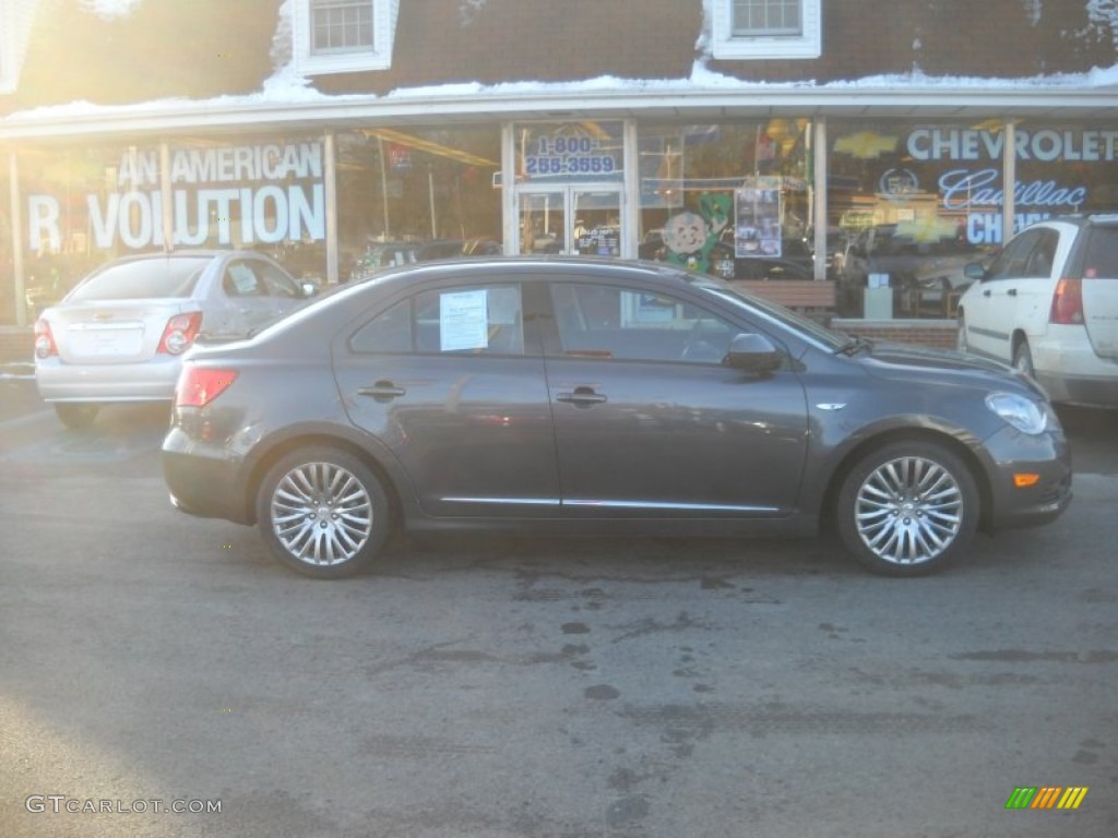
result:
[(897, 565), (942, 555), (961, 531), (964, 493), (939, 463), (901, 457), (862, 482), (854, 505), (858, 534), (880, 560)]

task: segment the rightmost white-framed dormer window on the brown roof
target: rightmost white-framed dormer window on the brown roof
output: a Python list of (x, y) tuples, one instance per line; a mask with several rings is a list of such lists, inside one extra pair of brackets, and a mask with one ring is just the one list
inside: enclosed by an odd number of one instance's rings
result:
[(716, 0), (714, 58), (818, 58), (822, 0)]

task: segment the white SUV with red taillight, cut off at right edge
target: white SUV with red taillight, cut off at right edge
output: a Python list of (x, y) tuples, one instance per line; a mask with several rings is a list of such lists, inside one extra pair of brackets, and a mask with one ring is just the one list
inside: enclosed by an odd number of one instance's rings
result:
[(1118, 408), (1118, 215), (1022, 230), (959, 301), (959, 349), (1012, 363), (1053, 401)]

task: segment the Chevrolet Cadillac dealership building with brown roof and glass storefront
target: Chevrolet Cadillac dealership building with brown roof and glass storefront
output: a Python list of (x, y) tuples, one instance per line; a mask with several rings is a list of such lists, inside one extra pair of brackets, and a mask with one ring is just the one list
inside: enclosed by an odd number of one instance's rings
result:
[(1111, 4), (882, 6), (0, 0), (0, 327), (129, 253), (332, 284), (444, 242), (865, 317), (870, 242), (928, 276), (1118, 210)]

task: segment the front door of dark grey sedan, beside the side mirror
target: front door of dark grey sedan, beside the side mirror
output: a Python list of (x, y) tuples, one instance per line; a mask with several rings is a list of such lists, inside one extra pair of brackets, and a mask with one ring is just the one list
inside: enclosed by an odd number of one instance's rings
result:
[(792, 370), (722, 364), (741, 331), (650, 291), (553, 283), (544, 354), (567, 517), (780, 517), (807, 453)]

